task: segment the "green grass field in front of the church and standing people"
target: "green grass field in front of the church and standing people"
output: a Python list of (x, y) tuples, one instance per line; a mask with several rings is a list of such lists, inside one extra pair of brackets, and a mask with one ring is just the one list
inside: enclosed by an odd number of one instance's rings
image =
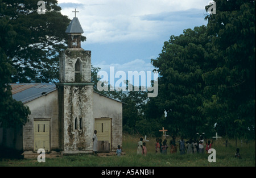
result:
[[(255, 167), (255, 140), (241, 144), (238, 142), (242, 159), (234, 158), (236, 145), (230, 140), (228, 147), (225, 147), (224, 140), (214, 140), (212, 148), (216, 150), (216, 163), (208, 162), (209, 154), (155, 154), (155, 138), (148, 137), (146, 142), (147, 156), (137, 155), (137, 143), (140, 136), (123, 135), (122, 150), (126, 155), (118, 156), (93, 156), (74, 155), (60, 158), (46, 158), (45, 163), (38, 163), (37, 159), (0, 159), (0, 166), (86, 166), (86, 167)], [(170, 142), (170, 139), (167, 139)]]

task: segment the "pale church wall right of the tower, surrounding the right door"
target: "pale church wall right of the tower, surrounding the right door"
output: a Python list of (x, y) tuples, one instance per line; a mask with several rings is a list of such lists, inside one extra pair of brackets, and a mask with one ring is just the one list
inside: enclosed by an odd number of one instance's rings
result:
[(112, 151), (122, 146), (122, 103), (94, 92), (93, 117), (112, 118)]

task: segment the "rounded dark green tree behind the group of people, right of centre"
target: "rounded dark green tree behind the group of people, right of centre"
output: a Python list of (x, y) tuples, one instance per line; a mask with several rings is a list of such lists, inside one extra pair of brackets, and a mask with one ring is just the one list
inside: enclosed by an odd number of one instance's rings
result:
[(151, 60), (160, 74), (155, 100), (159, 109), (166, 111), (164, 123), (174, 135), (192, 136), (206, 129), (207, 121), (198, 109), (204, 98), (202, 74), (214, 63), (206, 30), (205, 26), (195, 27), (171, 36), (159, 57)]

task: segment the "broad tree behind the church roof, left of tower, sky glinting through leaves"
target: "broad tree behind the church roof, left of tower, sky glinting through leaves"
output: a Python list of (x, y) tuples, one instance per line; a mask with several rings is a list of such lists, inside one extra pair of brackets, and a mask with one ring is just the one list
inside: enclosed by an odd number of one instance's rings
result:
[[(38, 1), (3, 0), (16, 38), (6, 55), (12, 59), (14, 82), (56, 82), (59, 53), (67, 48), (65, 30), (70, 22), (60, 13), (56, 0), (44, 1), (46, 13), (38, 14)], [(86, 38), (82, 36), (81, 40)]]

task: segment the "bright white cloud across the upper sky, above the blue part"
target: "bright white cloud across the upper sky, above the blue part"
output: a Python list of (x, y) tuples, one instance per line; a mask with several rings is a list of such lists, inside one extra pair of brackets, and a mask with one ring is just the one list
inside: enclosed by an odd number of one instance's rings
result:
[[(203, 10), (208, 1), (59, 0), (60, 6), (61, 3), (63, 5), (61, 13), (68, 15), (70, 19), (74, 16), (72, 11), (74, 11), (74, 8), (77, 8), (79, 11), (77, 16), (87, 38), (86, 43), (89, 44), (157, 39), (164, 30), (172, 31), (174, 26), (179, 26), (182, 20), (186, 20), (186, 14), (180, 13), (180, 11), (189, 9)], [(179, 11), (179, 13), (176, 16), (172, 14), (172, 18), (163, 16), (169, 15), (174, 11)], [(191, 16), (191, 14), (189, 15)], [(152, 20), (160, 17), (165, 18), (165, 20)], [(151, 20), (148, 20), (149, 18)], [(204, 17), (201, 16), (200, 18), (203, 19)], [(179, 22), (177, 22), (178, 19)]]

